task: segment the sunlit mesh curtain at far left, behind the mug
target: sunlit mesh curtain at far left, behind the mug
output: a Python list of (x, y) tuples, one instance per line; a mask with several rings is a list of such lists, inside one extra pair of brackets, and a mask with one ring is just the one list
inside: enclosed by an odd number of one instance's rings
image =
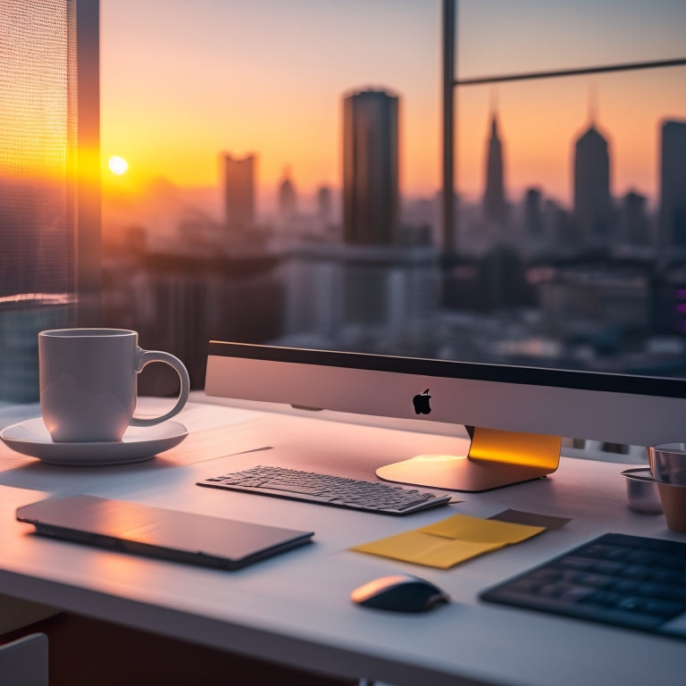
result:
[(74, 312), (76, 0), (0, 0), (0, 403)]

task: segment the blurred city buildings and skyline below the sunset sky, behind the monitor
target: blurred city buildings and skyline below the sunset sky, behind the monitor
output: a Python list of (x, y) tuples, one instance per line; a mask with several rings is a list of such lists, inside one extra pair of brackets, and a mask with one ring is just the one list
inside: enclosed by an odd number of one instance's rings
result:
[[(342, 188), (305, 210), (285, 168), (256, 206), (259, 152), (222, 152), (217, 188), (160, 180), (105, 197), (104, 323), (140, 333), (205, 380), (210, 339), (398, 356), (679, 376), (686, 372), (686, 121), (657, 121), (659, 205), (611, 193), (611, 132), (590, 115), (573, 147), (573, 206), (508, 194), (489, 113), (482, 197), (403, 197), (389, 89), (342, 96)], [(336, 104), (333, 103), (332, 106)], [(312, 203), (310, 204), (312, 205)], [(145, 377), (145, 378), (144, 378)], [(142, 391), (175, 392), (173, 374)]]

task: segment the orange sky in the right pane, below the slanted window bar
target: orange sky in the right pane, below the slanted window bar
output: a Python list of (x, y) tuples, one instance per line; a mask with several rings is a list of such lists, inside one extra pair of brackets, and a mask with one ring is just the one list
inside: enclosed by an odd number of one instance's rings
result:
[[(653, 201), (659, 182), (659, 127), (686, 115), (686, 93), (677, 88), (683, 69), (606, 76), (541, 79), (498, 87), (498, 130), (503, 142), (508, 197), (519, 201), (537, 186), (569, 204), (573, 146), (589, 128), (590, 88), (597, 92), (594, 120), (607, 138), (615, 196), (637, 189)], [(483, 189), (489, 109), (493, 87), (459, 91), (457, 186), (468, 197)]]

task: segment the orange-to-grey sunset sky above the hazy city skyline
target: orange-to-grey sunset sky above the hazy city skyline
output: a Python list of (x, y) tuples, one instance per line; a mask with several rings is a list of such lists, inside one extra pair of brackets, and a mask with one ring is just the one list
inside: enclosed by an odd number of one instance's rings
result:
[[(289, 167), (298, 191), (339, 188), (342, 97), (397, 93), (401, 191), (440, 186), (440, 0), (101, 0), (105, 187), (155, 177), (219, 182), (218, 155), (255, 153), (260, 200)], [(459, 3), (457, 76), (686, 57), (686, 3)], [(481, 194), (497, 106), (510, 199), (536, 185), (565, 203), (573, 140), (598, 129), (612, 191), (657, 193), (659, 123), (686, 120), (686, 67), (458, 88), (459, 190)], [(106, 168), (121, 155), (129, 171)]]

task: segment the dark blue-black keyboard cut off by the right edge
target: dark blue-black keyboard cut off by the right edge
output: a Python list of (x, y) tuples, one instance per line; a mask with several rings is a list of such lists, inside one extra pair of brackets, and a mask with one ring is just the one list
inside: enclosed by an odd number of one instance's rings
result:
[(686, 640), (686, 542), (607, 533), (481, 599)]

